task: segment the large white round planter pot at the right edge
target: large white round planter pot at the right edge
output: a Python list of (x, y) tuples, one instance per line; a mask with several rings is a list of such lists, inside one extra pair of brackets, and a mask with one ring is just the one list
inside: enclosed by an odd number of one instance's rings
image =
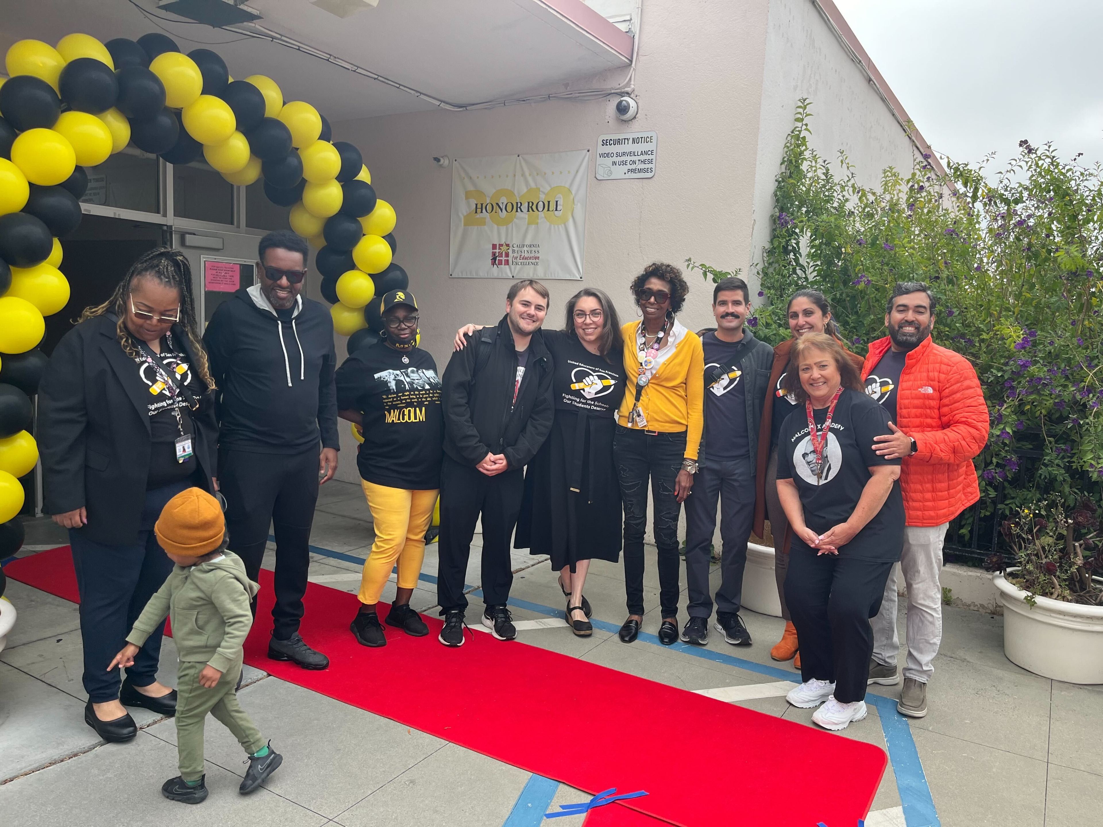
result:
[(1004, 605), (1008, 660), (1067, 684), (1103, 684), (1103, 606), (1038, 597), (1031, 609), (1022, 589), (1003, 574), (992, 580)]

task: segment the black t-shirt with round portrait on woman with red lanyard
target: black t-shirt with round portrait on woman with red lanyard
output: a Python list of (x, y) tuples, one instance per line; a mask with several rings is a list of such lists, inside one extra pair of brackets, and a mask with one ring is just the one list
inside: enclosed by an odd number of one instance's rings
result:
[[(817, 428), (827, 408), (813, 410)], [(816, 534), (845, 523), (861, 498), (872, 465), (899, 465), (874, 450), (874, 437), (891, 433), (888, 412), (865, 394), (845, 389), (835, 406), (831, 433), (817, 463), (804, 406), (786, 417), (778, 443), (778, 479), (793, 480), (804, 506), (804, 524)], [(900, 481), (866, 527), (839, 549), (840, 556), (859, 560), (899, 560), (903, 547), (903, 497)], [(794, 543), (800, 541), (794, 537)]]

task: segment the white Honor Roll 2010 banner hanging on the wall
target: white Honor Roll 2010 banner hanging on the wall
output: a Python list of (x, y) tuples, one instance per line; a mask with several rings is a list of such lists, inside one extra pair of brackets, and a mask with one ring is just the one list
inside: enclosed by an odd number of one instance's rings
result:
[(454, 278), (581, 279), (589, 150), (452, 162)]

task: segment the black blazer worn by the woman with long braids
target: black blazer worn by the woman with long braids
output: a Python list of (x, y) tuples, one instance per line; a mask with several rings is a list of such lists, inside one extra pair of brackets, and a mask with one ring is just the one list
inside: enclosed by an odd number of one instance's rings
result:
[[(174, 343), (195, 364), (188, 335)], [(132, 382), (135, 363), (101, 315), (76, 325), (57, 343), (39, 387), (39, 451), (47, 514), (87, 509), (86, 536), (105, 545), (138, 541), (150, 461), (148, 402)], [(218, 427), (210, 391), (192, 412), (193, 450), (213, 491)]]

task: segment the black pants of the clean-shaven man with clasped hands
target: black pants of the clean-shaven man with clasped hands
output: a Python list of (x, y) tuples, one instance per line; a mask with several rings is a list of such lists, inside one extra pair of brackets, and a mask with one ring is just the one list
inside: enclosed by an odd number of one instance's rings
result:
[(482, 515), (482, 591), (486, 605), (504, 605), (513, 586), (510, 538), (521, 514), (524, 472), (518, 469), (486, 476), (448, 454), (440, 466), (440, 540), (437, 602), (441, 614), (463, 611), (468, 599), (463, 580), (471, 556), (471, 538)]

